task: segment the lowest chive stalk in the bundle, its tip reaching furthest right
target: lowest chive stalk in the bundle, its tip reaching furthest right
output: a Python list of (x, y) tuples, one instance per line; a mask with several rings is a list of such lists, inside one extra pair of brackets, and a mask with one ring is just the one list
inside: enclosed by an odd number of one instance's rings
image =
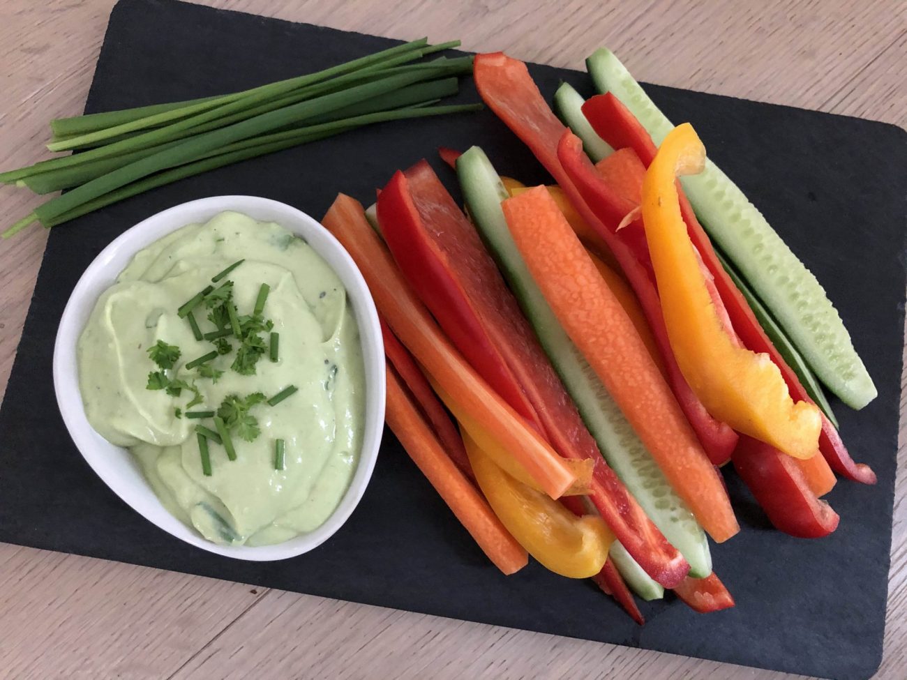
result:
[[(83, 215), (87, 215), (88, 213), (93, 212), (94, 210), (104, 208), (124, 199), (132, 198), (132, 196), (144, 193), (145, 191), (157, 189), (158, 187), (171, 184), (171, 182), (183, 180), (188, 177), (193, 177), (194, 175), (200, 175), (210, 170), (216, 170), (226, 165), (238, 163), (241, 160), (249, 160), (258, 156), (264, 156), (268, 153), (283, 151), (285, 149), (289, 149), (291, 147), (305, 144), (311, 141), (327, 139), (328, 137), (333, 137), (334, 135), (340, 134), (341, 132), (354, 130), (357, 127), (362, 127), (363, 125), (370, 123), (383, 121), (400, 121), (405, 119), (424, 118), (428, 116), (448, 115), (453, 113), (475, 112), (480, 111), (481, 109), (481, 104), (431, 106), (420, 109), (409, 108), (399, 111), (368, 114), (367, 116), (361, 116), (360, 120), (356, 122), (350, 122), (355, 119), (348, 119), (348, 121), (334, 121), (330, 123), (324, 123), (322, 125), (313, 125), (308, 128), (301, 128), (298, 131), (288, 131), (272, 135), (273, 137), (277, 137), (278, 135), (286, 136), (285, 139), (279, 141), (259, 143), (259, 140), (249, 140), (247, 142), (247, 145), (241, 149), (221, 152), (208, 158), (202, 158), (201, 160), (196, 160), (194, 162), (187, 163), (186, 165), (181, 165), (179, 167), (172, 168), (171, 170), (166, 170), (164, 172), (151, 175), (151, 177), (145, 178), (144, 180), (132, 182), (132, 184), (127, 184), (120, 189), (115, 189), (110, 192), (104, 193), (95, 199), (83, 203), (78, 208), (67, 210), (62, 215), (59, 215), (54, 219), (48, 219), (47, 221), (42, 220), (42, 224), (44, 224), (44, 227), (56, 227), (57, 225), (64, 224), (71, 219), (80, 218)], [(369, 120), (366, 121), (363, 119)], [(4, 238), (9, 238), (15, 235), (17, 232), (32, 224), (35, 219), (37, 218), (33, 213), (25, 219), (16, 222), (12, 227), (6, 229), (6, 231), (3, 232), (2, 236)]]

